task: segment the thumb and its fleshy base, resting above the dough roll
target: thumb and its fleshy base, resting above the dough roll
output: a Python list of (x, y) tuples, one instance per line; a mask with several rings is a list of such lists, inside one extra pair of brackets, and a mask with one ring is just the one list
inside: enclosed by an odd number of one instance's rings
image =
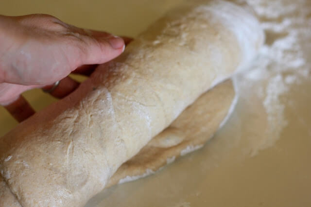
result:
[[(0, 82), (47, 85), (82, 65), (117, 57), (130, 39), (66, 24), (50, 15), (10, 17)], [(0, 51), (1, 53), (1, 51)], [(35, 58), (30, 58), (35, 57)], [(14, 66), (14, 67), (13, 67)], [(5, 75), (4, 75), (5, 74)]]

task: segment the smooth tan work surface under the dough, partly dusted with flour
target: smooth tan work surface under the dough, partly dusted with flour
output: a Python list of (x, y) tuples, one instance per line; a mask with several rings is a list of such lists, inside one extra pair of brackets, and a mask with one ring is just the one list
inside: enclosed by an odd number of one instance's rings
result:
[[(73, 4), (74, 2), (74, 4)], [(0, 14), (46, 13), (70, 24), (135, 36), (182, 0), (2, 0)], [(311, 2), (249, 0), (266, 30), (240, 98), (207, 145), (138, 181), (104, 190), (87, 207), (311, 206)], [(36, 110), (55, 99), (25, 97)], [(0, 108), (0, 136), (17, 124)]]

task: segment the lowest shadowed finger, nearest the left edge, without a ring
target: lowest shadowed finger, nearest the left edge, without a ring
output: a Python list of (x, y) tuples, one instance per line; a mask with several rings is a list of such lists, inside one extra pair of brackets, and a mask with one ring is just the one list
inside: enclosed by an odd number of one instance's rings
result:
[(35, 114), (35, 110), (30, 106), (26, 99), (19, 96), (16, 101), (5, 105), (4, 108), (18, 121), (24, 121)]

